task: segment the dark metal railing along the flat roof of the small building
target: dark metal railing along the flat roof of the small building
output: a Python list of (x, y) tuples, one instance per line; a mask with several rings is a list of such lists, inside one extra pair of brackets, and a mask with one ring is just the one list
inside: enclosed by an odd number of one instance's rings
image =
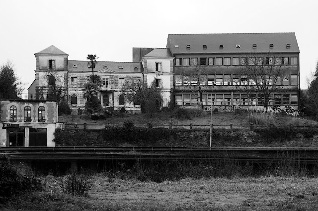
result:
[(52, 94), (19, 94), (9, 95), (0, 93), (0, 100), (31, 100), (31, 101), (56, 101), (56, 97)]

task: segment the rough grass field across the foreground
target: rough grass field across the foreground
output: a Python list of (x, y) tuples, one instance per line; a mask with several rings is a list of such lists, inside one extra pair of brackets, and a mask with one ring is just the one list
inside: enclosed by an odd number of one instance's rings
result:
[(298, 177), (209, 178), (140, 182), (90, 178), (89, 196), (61, 192), (62, 178), (46, 176), (45, 190), (21, 195), (3, 211), (317, 211), (318, 179)]

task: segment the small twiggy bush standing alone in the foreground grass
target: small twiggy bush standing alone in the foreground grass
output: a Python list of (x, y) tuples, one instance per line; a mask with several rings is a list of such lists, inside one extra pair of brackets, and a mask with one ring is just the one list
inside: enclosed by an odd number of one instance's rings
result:
[(61, 180), (60, 187), (65, 194), (73, 196), (88, 196), (92, 183), (87, 175), (72, 173)]

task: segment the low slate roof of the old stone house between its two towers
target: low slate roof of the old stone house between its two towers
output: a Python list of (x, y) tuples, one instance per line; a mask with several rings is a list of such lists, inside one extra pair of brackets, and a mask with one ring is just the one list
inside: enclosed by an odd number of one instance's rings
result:
[[(91, 72), (91, 68), (88, 68), (88, 61), (77, 61), (77, 60), (69, 60), (68, 70), (69, 71), (81, 71), (81, 72)], [(74, 67), (73, 65), (77, 65)], [(141, 73), (142, 68), (140, 62), (116, 62), (116, 61), (97, 61), (97, 64), (94, 68), (94, 73), (99, 70), (105, 69), (104, 66), (107, 66), (107, 69), (116, 72), (123, 73)], [(122, 66), (123, 68), (119, 68)], [(138, 69), (135, 69), (137, 67)]]

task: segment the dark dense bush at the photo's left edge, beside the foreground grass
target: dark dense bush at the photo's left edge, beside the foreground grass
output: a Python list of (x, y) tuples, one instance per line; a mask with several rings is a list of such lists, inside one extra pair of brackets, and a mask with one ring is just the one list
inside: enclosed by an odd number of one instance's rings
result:
[(20, 175), (5, 155), (0, 155), (0, 178), (0, 203), (25, 191), (42, 190), (40, 179)]

